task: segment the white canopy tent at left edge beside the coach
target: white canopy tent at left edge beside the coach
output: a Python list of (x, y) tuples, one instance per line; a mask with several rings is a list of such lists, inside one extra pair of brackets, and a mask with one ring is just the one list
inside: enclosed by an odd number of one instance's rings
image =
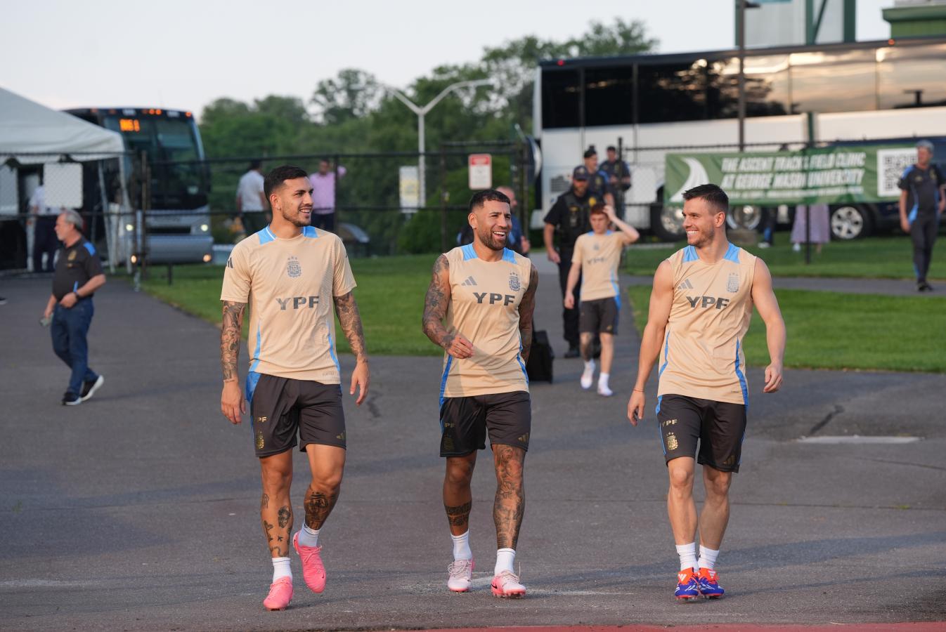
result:
[[(121, 134), (87, 123), (72, 114), (51, 110), (26, 97), (0, 88), (0, 165), (13, 159), (19, 164), (46, 164), (61, 162), (66, 157), (76, 162), (102, 161), (121, 158), (125, 144)], [(119, 160), (122, 172), (122, 199), (125, 192), (124, 161)], [(101, 162), (98, 164), (101, 182)], [(14, 193), (15, 195), (15, 193)], [(104, 192), (103, 192), (104, 196)], [(6, 196), (5, 196), (6, 197)], [(13, 210), (18, 205), (14, 205)], [(126, 204), (122, 204), (126, 206)], [(106, 240), (110, 265), (114, 269), (119, 208), (108, 205), (103, 199), (103, 209), (110, 209)], [(113, 234), (114, 233), (114, 234)], [(28, 234), (28, 233), (27, 233)], [(31, 240), (30, 240), (31, 241)]]

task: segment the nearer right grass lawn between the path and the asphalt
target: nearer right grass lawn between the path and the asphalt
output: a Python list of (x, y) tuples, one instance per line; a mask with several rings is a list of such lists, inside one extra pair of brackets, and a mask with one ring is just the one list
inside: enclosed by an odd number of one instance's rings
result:
[[(627, 288), (635, 325), (642, 331), (649, 285)], [(946, 372), (946, 298), (777, 290), (788, 330), (785, 366)], [(745, 360), (769, 362), (765, 325), (753, 314)]]

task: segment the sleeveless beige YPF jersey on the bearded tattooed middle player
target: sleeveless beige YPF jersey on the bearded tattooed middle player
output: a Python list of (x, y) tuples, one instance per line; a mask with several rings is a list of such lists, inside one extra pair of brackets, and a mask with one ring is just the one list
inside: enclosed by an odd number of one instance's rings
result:
[(447, 252), (450, 302), (447, 332), (473, 344), (473, 356), (444, 354), (440, 400), (529, 391), (519, 352), (519, 303), (529, 289), (532, 262), (509, 248), (497, 262), (483, 261), (472, 244)]

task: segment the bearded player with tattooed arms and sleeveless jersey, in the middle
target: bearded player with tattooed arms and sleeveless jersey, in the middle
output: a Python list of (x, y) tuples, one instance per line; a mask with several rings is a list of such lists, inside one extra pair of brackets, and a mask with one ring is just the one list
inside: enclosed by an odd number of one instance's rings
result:
[(514, 571), (525, 495), (522, 469), (532, 407), (526, 362), (538, 274), (526, 257), (506, 248), (512, 229), (509, 198), (486, 190), (470, 199), (472, 244), (440, 255), (424, 304), (424, 333), (442, 347), (440, 455), (447, 458), (444, 507), (453, 538), (447, 588), (469, 589), (470, 480), (488, 432), (496, 467), (497, 597), (522, 597)]

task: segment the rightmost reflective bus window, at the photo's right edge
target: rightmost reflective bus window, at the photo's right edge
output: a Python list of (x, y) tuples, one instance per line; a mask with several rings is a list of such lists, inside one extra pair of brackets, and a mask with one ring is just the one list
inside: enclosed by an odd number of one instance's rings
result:
[(946, 44), (877, 49), (881, 110), (946, 105)]

